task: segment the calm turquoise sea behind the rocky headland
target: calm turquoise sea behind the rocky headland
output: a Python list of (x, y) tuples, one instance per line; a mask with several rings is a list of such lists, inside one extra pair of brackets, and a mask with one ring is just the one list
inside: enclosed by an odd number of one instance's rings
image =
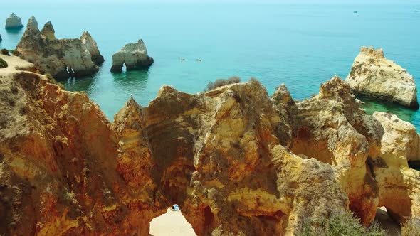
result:
[[(362, 45), (384, 48), (420, 85), (418, 5), (285, 4), (16, 4), (1, 3), (23, 22), (32, 15), (42, 28), (52, 21), (58, 38), (90, 31), (105, 63), (92, 77), (63, 80), (68, 90), (86, 91), (112, 116), (132, 94), (147, 104), (162, 85), (201, 92), (210, 80), (256, 77), (271, 94), (281, 83), (302, 100), (322, 82), (345, 78)], [(357, 11), (358, 13), (353, 13)], [(0, 48), (14, 48), (23, 31), (0, 28)], [(112, 54), (142, 38), (154, 58), (149, 70), (110, 73)], [(186, 58), (186, 60), (180, 60)], [(197, 62), (200, 58), (202, 61)], [(369, 112), (391, 111), (420, 129), (420, 112), (368, 102)]]

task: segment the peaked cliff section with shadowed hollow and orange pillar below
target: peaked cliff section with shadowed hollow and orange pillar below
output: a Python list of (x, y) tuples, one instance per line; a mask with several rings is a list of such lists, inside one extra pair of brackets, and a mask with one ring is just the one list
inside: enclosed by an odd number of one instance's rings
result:
[(367, 159), (380, 151), (383, 129), (379, 122), (365, 114), (339, 77), (325, 82), (319, 95), (298, 102), (291, 114), (291, 151), (337, 167), (350, 210), (365, 225), (372, 222), (378, 190)]

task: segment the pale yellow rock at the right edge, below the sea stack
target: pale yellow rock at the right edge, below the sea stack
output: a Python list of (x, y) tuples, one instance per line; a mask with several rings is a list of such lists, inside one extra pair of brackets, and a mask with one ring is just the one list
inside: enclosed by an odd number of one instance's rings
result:
[(373, 116), (385, 130), (381, 154), (370, 163), (379, 187), (379, 206), (385, 206), (397, 222), (419, 218), (420, 172), (408, 163), (420, 158), (419, 135), (412, 124), (395, 115), (375, 112)]

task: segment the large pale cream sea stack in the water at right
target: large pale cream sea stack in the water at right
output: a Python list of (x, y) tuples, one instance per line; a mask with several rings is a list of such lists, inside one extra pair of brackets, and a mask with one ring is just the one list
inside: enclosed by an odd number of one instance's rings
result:
[(360, 48), (346, 81), (356, 95), (395, 102), (412, 109), (419, 108), (413, 76), (385, 58), (382, 49)]

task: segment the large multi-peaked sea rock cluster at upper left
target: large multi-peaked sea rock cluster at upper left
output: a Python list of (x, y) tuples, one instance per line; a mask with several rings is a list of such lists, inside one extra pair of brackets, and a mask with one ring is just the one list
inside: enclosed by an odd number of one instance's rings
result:
[(56, 39), (54, 33), (51, 22), (46, 23), (43, 30), (39, 31), (38, 22), (31, 17), (16, 50), (22, 53), (23, 58), (34, 63), (42, 73), (50, 73), (53, 77), (92, 75), (98, 71), (93, 58), (98, 62), (100, 54), (90, 36), (84, 33), (82, 40)]

